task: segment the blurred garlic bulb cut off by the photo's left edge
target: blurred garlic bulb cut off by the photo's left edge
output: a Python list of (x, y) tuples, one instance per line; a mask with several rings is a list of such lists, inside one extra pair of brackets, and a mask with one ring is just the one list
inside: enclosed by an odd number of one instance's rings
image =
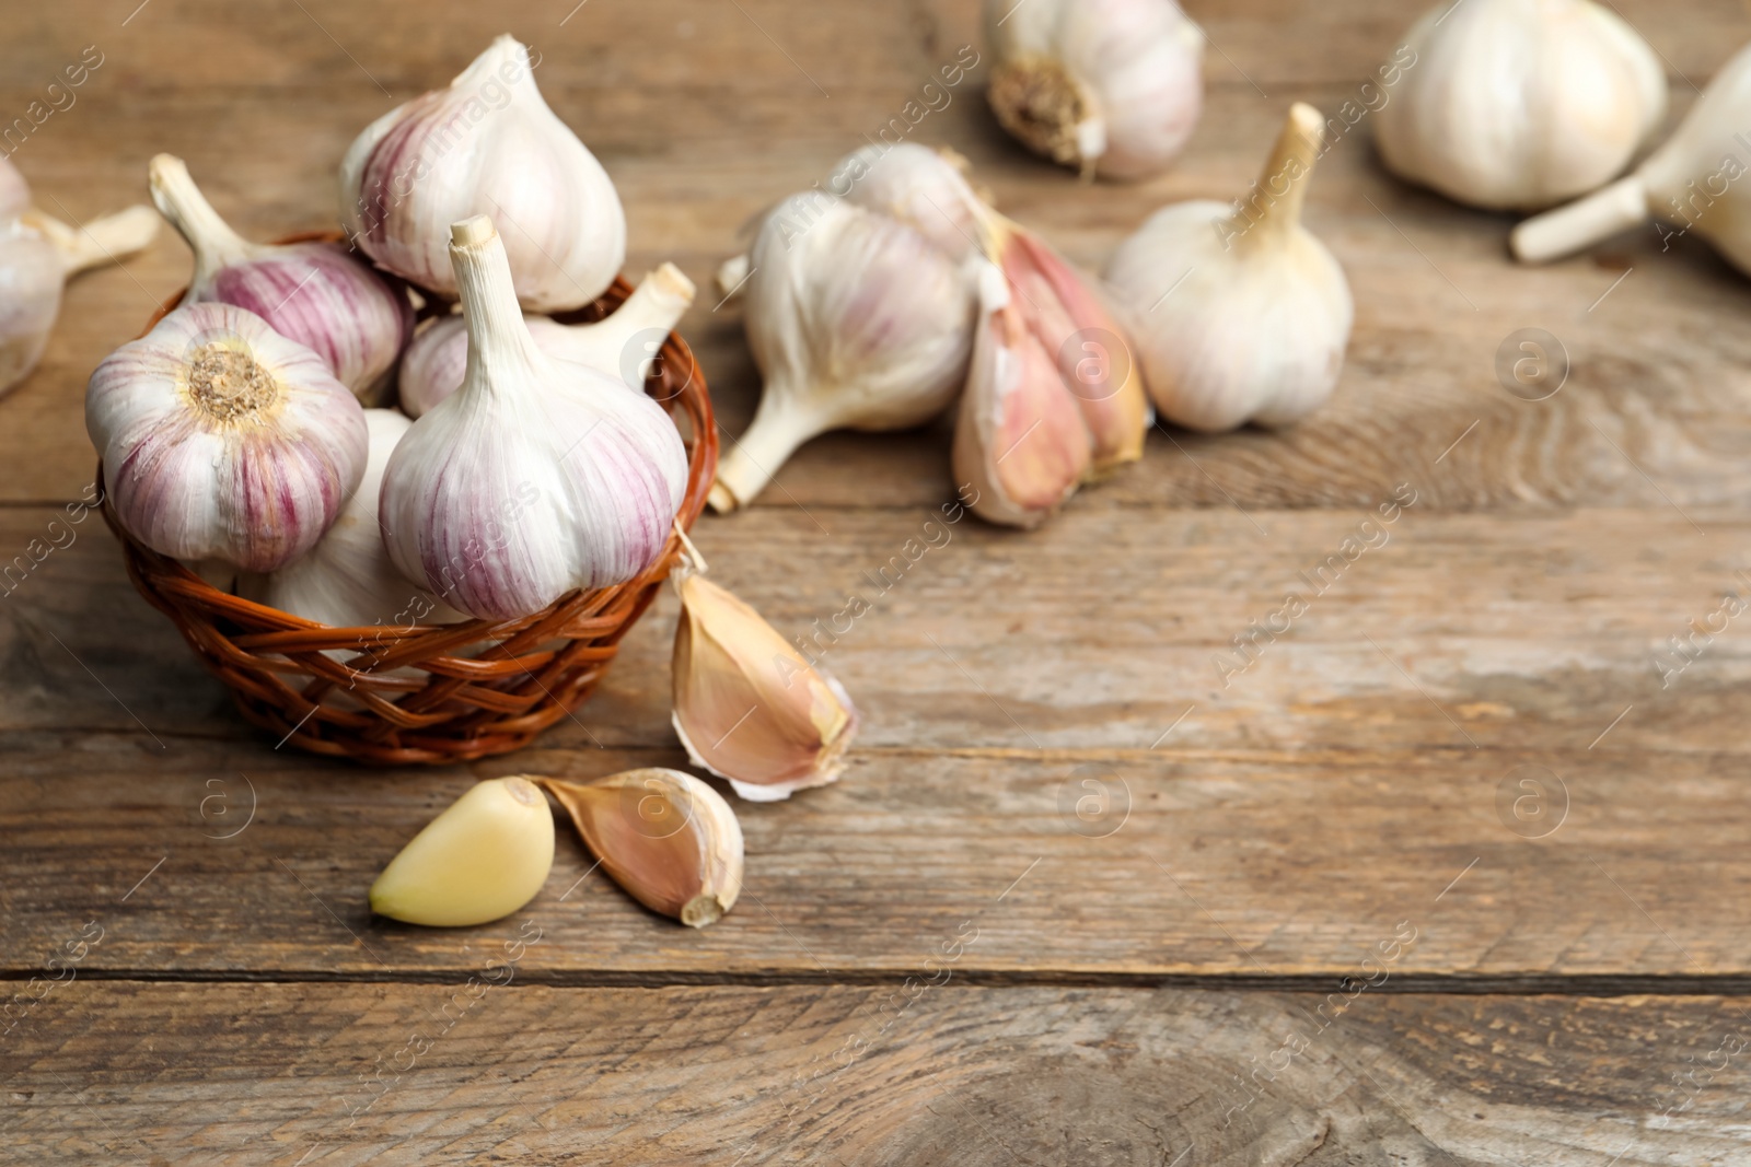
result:
[(30, 187), (0, 157), (0, 394), (23, 381), (61, 313), (61, 285), (74, 275), (144, 250), (158, 215), (131, 206), (81, 229), (30, 210)]

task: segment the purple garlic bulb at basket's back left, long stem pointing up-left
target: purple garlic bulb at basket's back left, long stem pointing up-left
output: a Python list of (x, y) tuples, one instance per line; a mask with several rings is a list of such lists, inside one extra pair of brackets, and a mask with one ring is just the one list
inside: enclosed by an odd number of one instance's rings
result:
[(336, 243), (250, 243), (219, 217), (180, 157), (149, 168), (152, 203), (194, 252), (184, 304), (247, 308), (327, 362), (366, 404), (385, 397), (396, 357), (413, 334), (413, 308)]

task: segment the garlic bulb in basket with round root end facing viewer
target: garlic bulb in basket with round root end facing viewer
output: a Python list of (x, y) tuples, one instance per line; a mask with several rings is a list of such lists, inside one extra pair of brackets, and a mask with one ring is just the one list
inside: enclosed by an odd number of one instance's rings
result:
[(135, 539), (252, 572), (317, 544), (369, 444), (364, 409), (320, 357), (212, 303), (177, 308), (98, 364), (86, 432)]

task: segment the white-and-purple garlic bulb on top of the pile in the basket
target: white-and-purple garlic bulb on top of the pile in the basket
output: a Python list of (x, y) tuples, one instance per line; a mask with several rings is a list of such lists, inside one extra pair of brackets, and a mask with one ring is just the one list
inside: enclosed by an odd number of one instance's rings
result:
[(366, 255), (434, 292), (457, 292), (450, 224), (492, 215), (517, 299), (588, 304), (627, 255), (608, 171), (541, 100), (529, 49), (499, 37), (448, 89), (371, 122), (340, 166), (341, 226)]

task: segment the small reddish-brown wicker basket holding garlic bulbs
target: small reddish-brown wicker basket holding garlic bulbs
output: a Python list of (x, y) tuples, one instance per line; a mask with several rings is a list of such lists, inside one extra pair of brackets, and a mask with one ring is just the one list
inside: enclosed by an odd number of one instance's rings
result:
[[(284, 241), (312, 238), (338, 236)], [(615, 280), (599, 301), (559, 318), (599, 320), (630, 294), (625, 280)], [(179, 292), (152, 324), (180, 299)], [(688, 528), (706, 506), (718, 464), (718, 430), (706, 380), (679, 336), (664, 341), (644, 388), (671, 416), (679, 415), (688, 478), (678, 520)], [(140, 595), (177, 625), (249, 721), (280, 745), (373, 765), (468, 761), (527, 745), (590, 695), (681, 551), (671, 534), (662, 556), (637, 579), (601, 591), (573, 591), (522, 619), (329, 628), (219, 591), (133, 539), (107, 504), (103, 518), (121, 541)], [(459, 654), (464, 649), (468, 656)], [(334, 660), (329, 651), (352, 656)], [(410, 667), (427, 675), (410, 677), (404, 672)], [(390, 675), (396, 670), (401, 675)], [(287, 679), (298, 681), (298, 688)]]

